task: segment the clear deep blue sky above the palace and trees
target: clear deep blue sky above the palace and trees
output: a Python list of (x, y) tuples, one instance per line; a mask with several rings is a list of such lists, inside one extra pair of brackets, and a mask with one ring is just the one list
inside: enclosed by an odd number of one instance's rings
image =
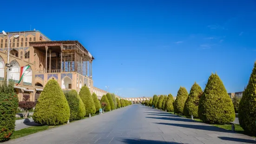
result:
[(4, 0), (1, 7), (6, 32), (31, 25), (52, 40), (79, 40), (95, 57), (94, 86), (124, 97), (176, 96), (195, 81), (204, 88), (211, 72), (228, 92), (243, 91), (256, 60), (255, 0)]

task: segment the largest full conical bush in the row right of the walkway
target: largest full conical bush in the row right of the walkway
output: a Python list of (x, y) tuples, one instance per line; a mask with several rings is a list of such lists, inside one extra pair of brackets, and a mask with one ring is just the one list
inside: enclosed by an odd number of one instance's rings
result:
[(198, 117), (203, 122), (218, 124), (229, 124), (235, 120), (232, 100), (217, 74), (211, 74), (208, 79), (199, 100)]

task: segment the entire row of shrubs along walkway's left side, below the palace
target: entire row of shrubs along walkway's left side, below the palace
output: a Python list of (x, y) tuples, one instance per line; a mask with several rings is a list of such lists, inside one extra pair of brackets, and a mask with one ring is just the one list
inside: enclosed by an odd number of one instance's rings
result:
[[(26, 118), (28, 110), (34, 107), (34, 102), (29, 102), (29, 95), (23, 96), (23, 102), (19, 103), (17, 95), (13, 91), (13, 82), (7, 85), (6, 80), (0, 83), (0, 142), (6, 141), (13, 134), (15, 128), (15, 115), (18, 106), (24, 111)], [(120, 107), (131, 105), (125, 99), (116, 98), (114, 94), (107, 93), (100, 99), (91, 92), (87, 86), (83, 86), (79, 94), (75, 91), (63, 92), (56, 80), (49, 80), (41, 92), (35, 110), (33, 120), (39, 124), (59, 125), (68, 120), (78, 120), (103, 111), (111, 111)]]

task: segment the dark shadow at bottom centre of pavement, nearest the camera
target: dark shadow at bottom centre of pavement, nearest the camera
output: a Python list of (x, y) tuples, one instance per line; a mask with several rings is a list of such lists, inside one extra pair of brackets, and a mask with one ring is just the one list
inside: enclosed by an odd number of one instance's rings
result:
[(157, 141), (157, 140), (128, 139), (128, 138), (125, 138), (124, 140), (122, 140), (122, 143), (125, 143), (125, 144), (182, 144), (177, 142), (164, 142), (164, 141)]

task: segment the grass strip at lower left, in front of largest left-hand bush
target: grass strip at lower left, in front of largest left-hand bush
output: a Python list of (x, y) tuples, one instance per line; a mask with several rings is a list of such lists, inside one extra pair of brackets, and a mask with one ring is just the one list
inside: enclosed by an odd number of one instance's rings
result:
[(30, 134), (33, 134), (33, 133), (36, 133), (39, 131), (45, 131), (45, 130), (51, 129), (53, 127), (57, 127), (57, 126), (48, 126), (48, 125), (31, 126), (31, 127), (25, 128), (25, 129), (14, 131), (13, 135), (11, 136), (11, 139), (24, 137), (24, 136), (27, 136), (27, 135), (30, 135)]

